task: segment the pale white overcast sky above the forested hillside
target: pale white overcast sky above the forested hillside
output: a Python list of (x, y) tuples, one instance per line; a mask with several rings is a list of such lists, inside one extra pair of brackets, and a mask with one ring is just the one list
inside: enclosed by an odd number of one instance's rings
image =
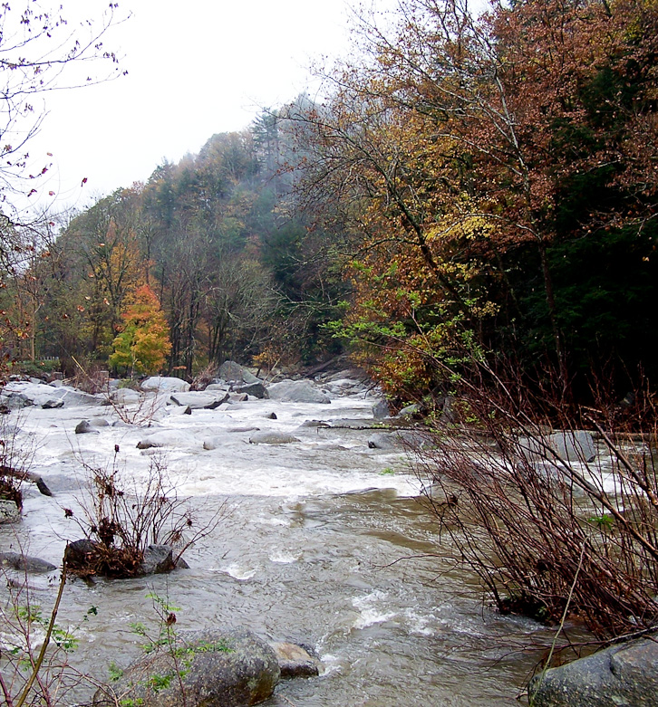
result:
[[(72, 25), (100, 16), (108, 0), (62, 4)], [(314, 60), (349, 45), (345, 0), (120, 0), (117, 15), (129, 13), (103, 40), (128, 75), (46, 96), (30, 153), (37, 162), (53, 153), (40, 194), (53, 191), (55, 206), (82, 208), (215, 133), (246, 128), (261, 107), (305, 90)]]

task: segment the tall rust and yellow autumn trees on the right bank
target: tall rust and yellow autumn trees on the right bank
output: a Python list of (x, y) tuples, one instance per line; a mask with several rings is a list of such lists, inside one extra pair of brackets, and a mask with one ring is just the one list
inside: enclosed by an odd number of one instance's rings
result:
[(464, 337), (565, 398), (650, 368), (658, 6), (406, 0), (359, 38), (293, 128), (305, 203), (351, 235), (356, 356), (406, 397), (450, 387)]

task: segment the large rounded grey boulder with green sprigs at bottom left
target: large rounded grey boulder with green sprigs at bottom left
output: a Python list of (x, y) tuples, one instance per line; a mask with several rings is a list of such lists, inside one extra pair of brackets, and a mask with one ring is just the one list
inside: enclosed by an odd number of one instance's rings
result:
[(245, 628), (185, 631), (100, 689), (93, 704), (109, 707), (121, 695), (141, 707), (246, 707), (268, 699), (279, 677), (274, 650)]

